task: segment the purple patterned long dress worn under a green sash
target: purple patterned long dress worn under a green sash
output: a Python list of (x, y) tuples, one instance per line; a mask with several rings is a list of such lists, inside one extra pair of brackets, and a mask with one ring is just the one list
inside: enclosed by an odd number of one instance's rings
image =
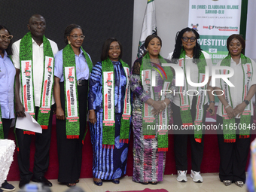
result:
[[(136, 59), (131, 71), (131, 90), (133, 91), (133, 181), (163, 181), (163, 173), (166, 164), (166, 152), (158, 151), (157, 131), (154, 139), (144, 139), (142, 133), (142, 105), (151, 96), (143, 90), (140, 82), (140, 66), (142, 57)], [(163, 89), (165, 75), (156, 73), (156, 87), (154, 87), (154, 99), (160, 100), (160, 90)], [(175, 79), (175, 78), (173, 78)], [(172, 81), (173, 86), (173, 81)], [(168, 94), (172, 100), (172, 95)], [(168, 108), (170, 117), (170, 105)]]

